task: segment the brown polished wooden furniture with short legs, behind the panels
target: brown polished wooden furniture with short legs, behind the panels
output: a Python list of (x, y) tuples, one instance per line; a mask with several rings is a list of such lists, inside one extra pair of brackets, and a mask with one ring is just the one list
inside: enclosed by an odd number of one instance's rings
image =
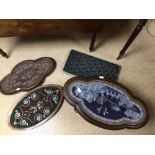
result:
[[(94, 50), (96, 34), (101, 31), (103, 20), (97, 19), (4, 19), (0, 20), (0, 37), (31, 37), (70, 34), (73, 32), (93, 33), (89, 50)], [(0, 54), (8, 55), (0, 49)]]

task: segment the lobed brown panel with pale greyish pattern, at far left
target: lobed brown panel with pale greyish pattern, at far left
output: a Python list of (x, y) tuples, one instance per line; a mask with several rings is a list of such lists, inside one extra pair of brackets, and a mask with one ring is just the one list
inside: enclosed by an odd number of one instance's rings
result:
[(3, 94), (31, 90), (41, 85), (56, 68), (56, 61), (49, 57), (25, 60), (17, 64), (0, 84)]

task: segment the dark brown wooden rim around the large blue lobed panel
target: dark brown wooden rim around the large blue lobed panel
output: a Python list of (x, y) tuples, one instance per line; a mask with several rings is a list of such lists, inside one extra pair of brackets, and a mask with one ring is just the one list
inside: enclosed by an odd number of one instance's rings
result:
[[(108, 125), (108, 124), (105, 124), (105, 123), (102, 123), (102, 122), (99, 122), (93, 118), (91, 118), (89, 115), (87, 115), (84, 110), (78, 105), (76, 104), (75, 102), (73, 102), (69, 96), (68, 96), (68, 93), (67, 93), (67, 88), (68, 86), (75, 82), (75, 81), (81, 81), (81, 82), (86, 82), (86, 83), (89, 83), (89, 82), (95, 82), (95, 81), (98, 81), (98, 82), (105, 82), (105, 83), (109, 83), (110, 85), (113, 85), (121, 90), (123, 90), (123, 92), (126, 92), (128, 96), (130, 96), (131, 98), (133, 98), (134, 100), (137, 100), (140, 102), (140, 104), (144, 107), (145, 109), (145, 119), (143, 120), (143, 122), (141, 124), (138, 124), (138, 125), (130, 125), (130, 124), (122, 124), (122, 125)], [(112, 81), (112, 80), (109, 80), (109, 79), (99, 79), (99, 78), (79, 78), (79, 77), (73, 77), (71, 79), (69, 79), (64, 87), (63, 87), (63, 92), (64, 92), (64, 97), (65, 99), (68, 101), (68, 103), (70, 105), (72, 105), (75, 110), (85, 119), (87, 120), (88, 122), (98, 126), (98, 127), (101, 127), (101, 128), (105, 128), (105, 129), (110, 129), (110, 130), (118, 130), (118, 129), (124, 129), (124, 128), (128, 128), (128, 129), (138, 129), (138, 128), (141, 128), (142, 126), (144, 126), (148, 120), (149, 120), (149, 114), (148, 114), (148, 110), (147, 110), (147, 107), (146, 107), (146, 104), (141, 100), (139, 99), (138, 97), (136, 97), (133, 93), (131, 93), (131, 91), (126, 88), (125, 86), (123, 86), (122, 84), (118, 83), (118, 82), (115, 82), (115, 81)]]

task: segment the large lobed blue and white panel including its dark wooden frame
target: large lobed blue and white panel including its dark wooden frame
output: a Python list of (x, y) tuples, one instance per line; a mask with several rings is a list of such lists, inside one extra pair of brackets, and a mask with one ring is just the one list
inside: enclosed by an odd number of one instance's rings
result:
[(64, 94), (86, 120), (103, 128), (139, 128), (148, 118), (142, 101), (118, 83), (72, 78)]

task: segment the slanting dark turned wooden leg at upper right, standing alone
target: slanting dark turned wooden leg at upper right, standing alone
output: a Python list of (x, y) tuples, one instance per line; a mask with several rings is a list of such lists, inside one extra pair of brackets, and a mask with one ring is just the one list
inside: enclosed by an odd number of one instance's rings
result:
[(139, 20), (139, 23), (136, 26), (135, 30), (132, 32), (131, 36), (129, 37), (128, 41), (124, 45), (123, 49), (120, 51), (119, 56), (117, 57), (117, 60), (119, 60), (125, 54), (126, 50), (129, 48), (129, 46), (132, 44), (132, 42), (135, 40), (135, 38), (141, 32), (141, 30), (143, 29), (143, 26), (146, 23), (147, 23), (147, 19)]

